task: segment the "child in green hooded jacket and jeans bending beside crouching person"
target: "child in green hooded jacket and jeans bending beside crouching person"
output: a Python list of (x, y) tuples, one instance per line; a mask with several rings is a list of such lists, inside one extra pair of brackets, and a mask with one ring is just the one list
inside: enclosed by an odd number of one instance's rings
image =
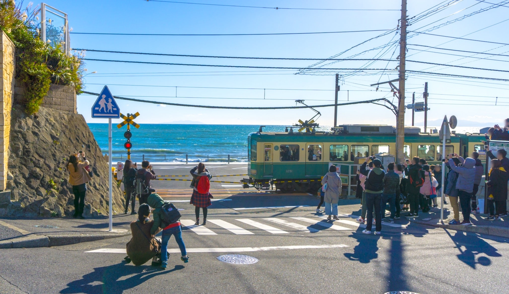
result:
[(154, 209), (152, 212), (154, 218), (154, 224), (150, 229), (151, 237), (157, 232), (158, 228), (162, 228), (161, 236), (161, 268), (165, 269), (168, 263), (168, 241), (172, 235), (175, 237), (175, 241), (180, 248), (181, 257), (180, 259), (184, 262), (189, 261), (187, 256), (186, 246), (182, 240), (182, 228), (180, 226), (180, 212), (170, 202), (165, 202), (157, 193), (152, 193), (147, 198), (147, 202), (151, 208)]

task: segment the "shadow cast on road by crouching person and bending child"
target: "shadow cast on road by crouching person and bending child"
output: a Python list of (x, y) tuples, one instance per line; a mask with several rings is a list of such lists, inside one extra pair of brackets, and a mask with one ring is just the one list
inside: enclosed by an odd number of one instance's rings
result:
[[(95, 268), (94, 272), (86, 274), (82, 279), (70, 282), (62, 294), (122, 294), (125, 290), (147, 282), (149, 279), (182, 270), (184, 266), (175, 266), (171, 270), (162, 270), (152, 266), (131, 266), (125, 261), (108, 267)], [(130, 276), (123, 279), (125, 276)]]

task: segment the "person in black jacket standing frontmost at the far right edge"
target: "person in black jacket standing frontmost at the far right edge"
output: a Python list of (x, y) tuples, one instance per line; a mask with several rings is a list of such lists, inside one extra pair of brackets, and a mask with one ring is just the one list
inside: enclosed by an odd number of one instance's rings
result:
[[(490, 180), (486, 183), (488, 186), (488, 209), (490, 216), (487, 220), (500, 219), (501, 214), (505, 214), (504, 202), (507, 200), (507, 178), (508, 173), (501, 166), (500, 160), (491, 160)], [(495, 210), (496, 208), (496, 210)]]

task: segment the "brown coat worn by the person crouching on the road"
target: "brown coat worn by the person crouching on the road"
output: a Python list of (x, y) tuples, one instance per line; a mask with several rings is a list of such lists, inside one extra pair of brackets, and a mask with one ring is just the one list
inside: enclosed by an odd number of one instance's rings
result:
[[(138, 226), (142, 228), (142, 231), (139, 230)], [(131, 258), (132, 263), (135, 266), (141, 266), (145, 262), (149, 261), (154, 255), (161, 250), (159, 243), (157, 243), (154, 238), (150, 236), (150, 229), (154, 221), (149, 221), (142, 224), (139, 221), (133, 221), (131, 223), (131, 240), (126, 244), (127, 256)], [(160, 231), (158, 229), (156, 234)], [(150, 238), (149, 241), (144, 234)]]

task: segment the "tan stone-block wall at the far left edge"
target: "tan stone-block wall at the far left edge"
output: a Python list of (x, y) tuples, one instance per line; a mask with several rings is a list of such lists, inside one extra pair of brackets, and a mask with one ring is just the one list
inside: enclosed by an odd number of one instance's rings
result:
[(9, 162), (9, 135), (11, 131), (11, 109), (14, 100), (15, 47), (2, 31), (0, 37), (0, 190), (6, 189)]

